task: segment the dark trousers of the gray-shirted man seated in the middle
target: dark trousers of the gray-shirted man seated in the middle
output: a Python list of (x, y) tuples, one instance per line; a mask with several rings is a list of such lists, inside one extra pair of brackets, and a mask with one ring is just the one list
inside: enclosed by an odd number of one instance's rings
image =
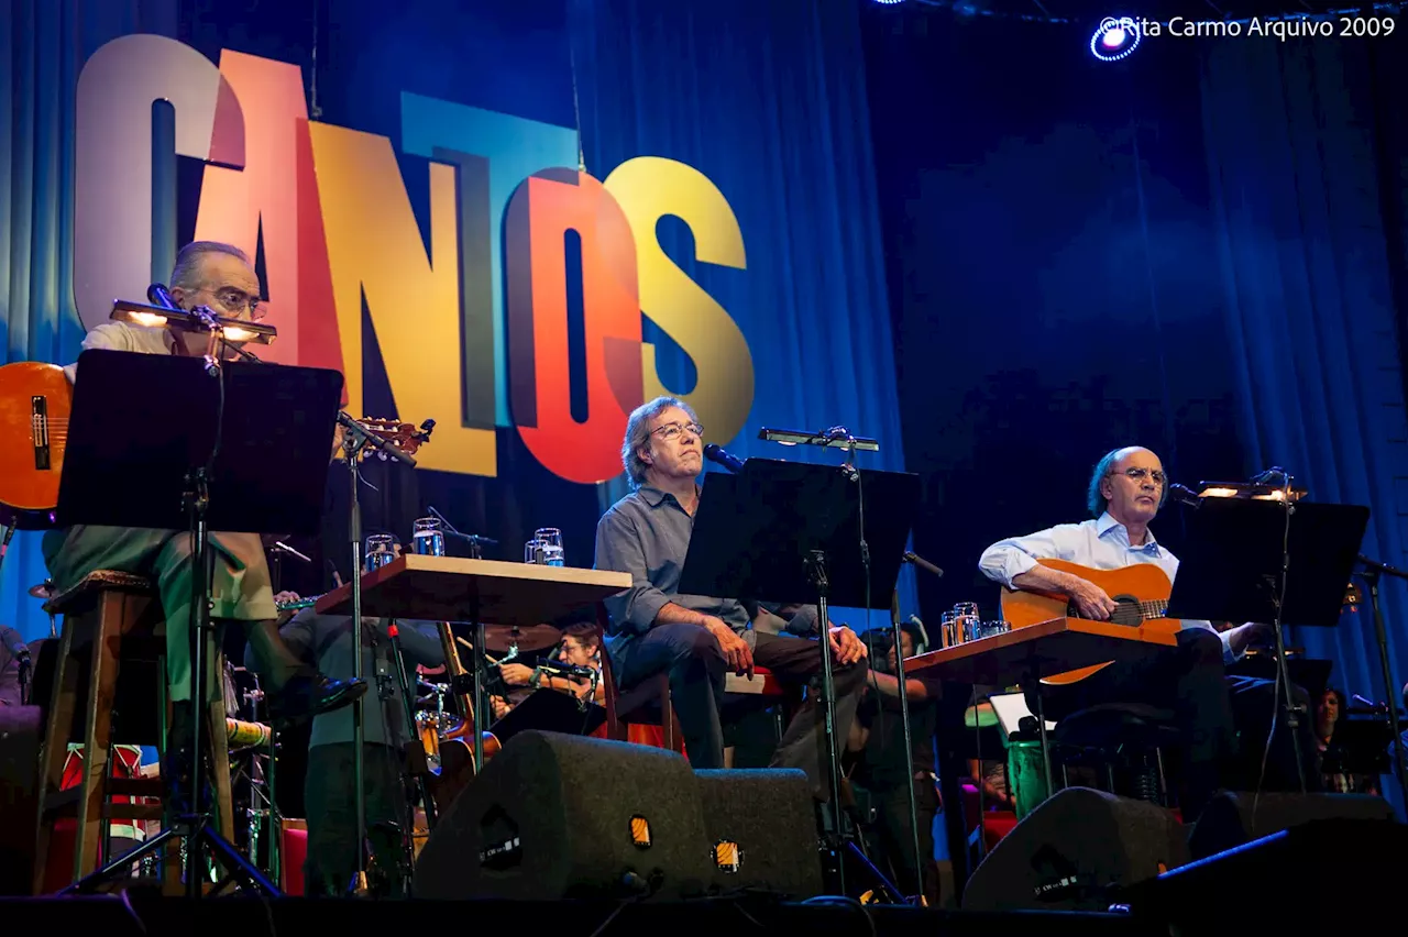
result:
[[(818, 685), (821, 649), (815, 640), (755, 632), (753, 663), (770, 670), (784, 684)], [(694, 768), (724, 767), (724, 730), (719, 702), (728, 664), (718, 639), (700, 625), (656, 625), (627, 642), (612, 656), (621, 689), (631, 689), (660, 673), (670, 680), (670, 703), (680, 719), (684, 750)], [(835, 667), (836, 743), (843, 746), (866, 684), (866, 663)], [(808, 692), (793, 718), (777, 753), (774, 768), (801, 768), (811, 779), (817, 799), (829, 799), (825, 713), (821, 694)]]

